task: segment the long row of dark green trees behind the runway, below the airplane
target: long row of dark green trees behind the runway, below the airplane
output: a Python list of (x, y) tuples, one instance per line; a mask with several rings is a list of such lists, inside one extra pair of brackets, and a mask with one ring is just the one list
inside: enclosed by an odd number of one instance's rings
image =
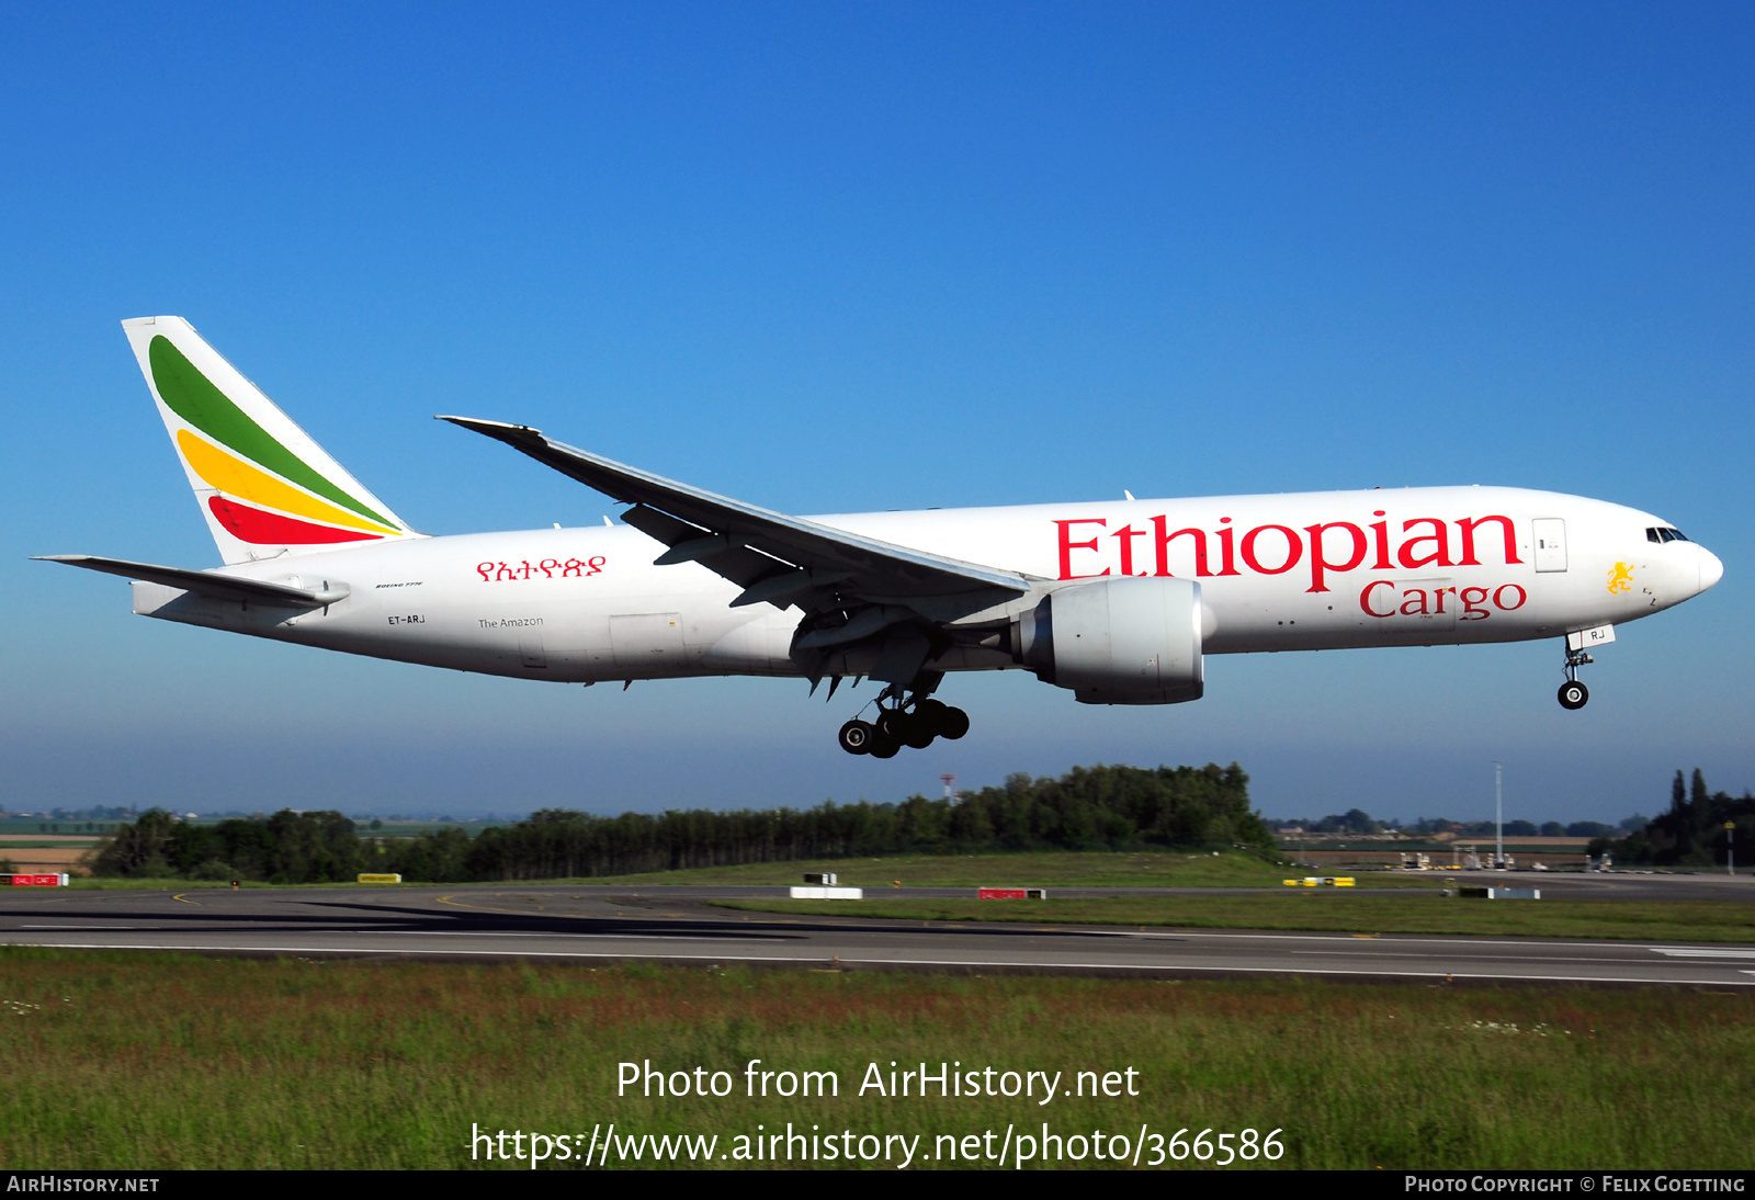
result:
[(95, 858), (100, 875), (321, 882), (360, 872), (407, 881), (621, 875), (895, 851), (1246, 846), (1274, 853), (1250, 809), (1250, 777), (1230, 767), (1076, 767), (1058, 779), (1016, 774), (955, 800), (605, 818), (544, 809), (526, 821), (412, 839), (360, 837), (339, 812), (191, 825), (153, 809)]

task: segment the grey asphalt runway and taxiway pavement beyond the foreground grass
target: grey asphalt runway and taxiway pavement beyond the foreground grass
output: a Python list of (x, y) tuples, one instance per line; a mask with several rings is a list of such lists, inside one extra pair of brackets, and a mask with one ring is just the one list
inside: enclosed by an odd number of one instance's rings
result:
[[(1625, 879), (1625, 877), (1623, 877)], [(1650, 877), (1630, 877), (1629, 886)], [(1676, 895), (1673, 881), (1667, 889)], [(1725, 881), (1755, 898), (1750, 881)], [(1741, 884), (1741, 886), (1737, 886)], [(1518, 886), (1525, 886), (1518, 881)], [(1548, 882), (1541, 882), (1548, 888)], [(1580, 895), (1583, 881), (1565, 888)], [(1646, 884), (1651, 886), (1651, 884)], [(1164, 895), (1069, 888), (1057, 895)], [(1193, 889), (1176, 889), (1193, 891)], [(1701, 879), (1694, 895), (1727, 895)], [(784, 888), (400, 886), (0, 895), (0, 944), (209, 954), (576, 961), (658, 960), (760, 967), (1025, 970), (1128, 975), (1330, 975), (1376, 979), (1755, 986), (1755, 946), (1553, 939), (1348, 935), (1243, 930), (795, 918), (718, 898)], [(886, 898), (969, 895), (885, 889)], [(1385, 895), (1385, 893), (1378, 893)], [(1604, 895), (1597, 891), (1595, 895)], [(1325, 902), (1344, 904), (1334, 895)], [(1432, 904), (1411, 895), (1413, 904)], [(1021, 904), (1021, 902), (1020, 902)]]

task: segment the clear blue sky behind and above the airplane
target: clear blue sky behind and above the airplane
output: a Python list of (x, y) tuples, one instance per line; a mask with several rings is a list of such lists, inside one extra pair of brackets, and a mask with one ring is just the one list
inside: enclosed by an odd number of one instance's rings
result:
[[(0, 7), (0, 804), (597, 811), (1241, 761), (1274, 816), (1755, 786), (1746, 5)], [(174, 312), (418, 528), (597, 495), (435, 412), (793, 512), (1495, 482), (1725, 561), (1550, 644), (1214, 658), (956, 744), (802, 682), (560, 688), (228, 639), (26, 561), (216, 561), (118, 321)]]

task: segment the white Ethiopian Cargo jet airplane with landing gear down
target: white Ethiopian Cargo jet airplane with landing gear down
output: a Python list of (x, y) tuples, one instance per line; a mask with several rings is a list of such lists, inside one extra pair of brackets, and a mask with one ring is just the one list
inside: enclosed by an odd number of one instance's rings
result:
[(44, 556), (165, 621), (465, 672), (885, 684), (853, 754), (960, 739), (946, 675), (1028, 670), (1081, 704), (1185, 704), (1207, 654), (1564, 639), (1560, 704), (1615, 626), (1723, 563), (1667, 519), (1522, 488), (1406, 488), (795, 518), (576, 449), (472, 430), (628, 505), (621, 525), (416, 532), (183, 318), (123, 321), (216, 568)]

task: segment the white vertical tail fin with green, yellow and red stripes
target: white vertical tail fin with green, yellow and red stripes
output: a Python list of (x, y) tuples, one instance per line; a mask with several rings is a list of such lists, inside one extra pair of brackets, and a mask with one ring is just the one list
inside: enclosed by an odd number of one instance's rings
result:
[(188, 321), (121, 326), (228, 565), (421, 537)]

